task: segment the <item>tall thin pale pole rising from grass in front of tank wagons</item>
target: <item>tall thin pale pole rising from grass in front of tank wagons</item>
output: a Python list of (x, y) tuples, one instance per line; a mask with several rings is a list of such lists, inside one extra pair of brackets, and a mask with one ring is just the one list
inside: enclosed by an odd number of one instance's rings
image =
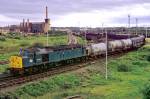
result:
[(107, 70), (107, 65), (108, 65), (108, 38), (107, 38), (107, 30), (105, 29), (105, 35), (106, 35), (106, 66), (105, 66), (105, 78), (106, 80), (108, 79), (108, 70)]

